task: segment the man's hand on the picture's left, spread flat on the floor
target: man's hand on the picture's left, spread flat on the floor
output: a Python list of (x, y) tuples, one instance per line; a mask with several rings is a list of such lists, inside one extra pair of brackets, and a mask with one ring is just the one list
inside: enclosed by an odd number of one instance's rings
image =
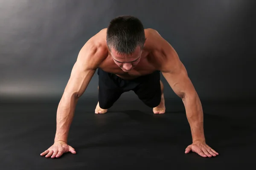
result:
[(45, 156), (46, 158), (58, 158), (63, 153), (71, 152), (73, 154), (76, 154), (76, 150), (68, 145), (66, 142), (63, 141), (57, 141), (54, 142), (54, 144), (49, 147), (49, 149), (45, 150), (43, 153), (41, 153), (41, 156)]

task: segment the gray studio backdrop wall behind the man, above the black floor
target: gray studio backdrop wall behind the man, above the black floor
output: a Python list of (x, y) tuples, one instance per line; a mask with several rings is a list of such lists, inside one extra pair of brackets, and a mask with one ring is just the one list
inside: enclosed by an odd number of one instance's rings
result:
[(254, 11), (253, 0), (0, 0), (0, 99), (60, 99), (84, 43), (126, 14), (172, 44), (201, 100), (253, 98)]

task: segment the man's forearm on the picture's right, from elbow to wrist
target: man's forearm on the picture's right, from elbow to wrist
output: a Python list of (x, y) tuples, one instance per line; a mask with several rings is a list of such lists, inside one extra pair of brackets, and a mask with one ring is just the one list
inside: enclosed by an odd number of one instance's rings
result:
[(186, 109), (186, 116), (190, 125), (192, 140), (205, 141), (204, 137), (204, 115), (201, 101), (198, 94), (186, 94), (183, 98), (183, 103)]

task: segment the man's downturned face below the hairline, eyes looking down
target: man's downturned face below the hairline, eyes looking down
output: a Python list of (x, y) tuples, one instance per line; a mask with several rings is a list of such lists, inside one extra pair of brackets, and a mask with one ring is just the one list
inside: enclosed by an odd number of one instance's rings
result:
[(122, 71), (129, 72), (140, 62), (140, 57), (142, 50), (140, 47), (137, 47), (133, 54), (118, 54), (113, 48), (111, 49), (111, 55)]

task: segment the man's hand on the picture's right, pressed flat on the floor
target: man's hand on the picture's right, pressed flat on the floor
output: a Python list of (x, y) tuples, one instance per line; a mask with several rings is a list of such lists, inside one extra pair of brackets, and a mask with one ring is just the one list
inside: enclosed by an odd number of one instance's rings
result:
[(192, 152), (198, 153), (198, 155), (202, 157), (208, 156), (210, 158), (212, 156), (218, 155), (218, 153), (215, 150), (213, 150), (203, 141), (193, 142), (186, 148), (185, 153), (189, 153), (191, 150)]

